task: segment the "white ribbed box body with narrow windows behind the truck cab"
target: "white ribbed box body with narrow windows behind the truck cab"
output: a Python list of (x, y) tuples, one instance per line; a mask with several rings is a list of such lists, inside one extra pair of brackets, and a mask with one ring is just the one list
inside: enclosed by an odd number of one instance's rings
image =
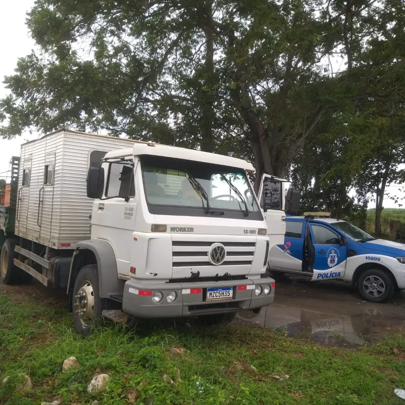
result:
[(90, 238), (87, 173), (130, 139), (61, 130), (21, 146), (15, 234), (54, 249)]

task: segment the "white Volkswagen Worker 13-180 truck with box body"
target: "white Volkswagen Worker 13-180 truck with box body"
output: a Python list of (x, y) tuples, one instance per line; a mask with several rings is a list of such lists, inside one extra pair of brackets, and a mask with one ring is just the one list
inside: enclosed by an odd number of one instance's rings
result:
[(214, 323), (259, 311), (274, 299), (264, 273), (285, 223), (265, 189), (260, 208), (252, 171), (234, 157), (75, 131), (25, 143), (3, 281), (67, 291), (82, 335), (102, 316)]

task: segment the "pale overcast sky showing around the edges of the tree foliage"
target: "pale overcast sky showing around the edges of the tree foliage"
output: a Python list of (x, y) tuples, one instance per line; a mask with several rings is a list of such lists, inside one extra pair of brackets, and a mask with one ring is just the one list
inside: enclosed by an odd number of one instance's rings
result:
[[(34, 6), (34, 0), (0, 0), (0, 99), (8, 94), (5, 89), (4, 76), (13, 74), (17, 64), (17, 59), (28, 55), (35, 47), (33, 39), (30, 37), (27, 26), (25, 25), (26, 13)], [(12, 140), (0, 139), (0, 178), (5, 178), (9, 170), (11, 156), (20, 155), (20, 146), (22, 143), (36, 139), (40, 134), (23, 134)], [(401, 195), (405, 193), (399, 191), (398, 185), (392, 185), (387, 188), (391, 195)], [(352, 194), (352, 193), (351, 193)], [(399, 201), (404, 204), (405, 199)], [(370, 201), (369, 208), (373, 208), (374, 203)], [(399, 208), (394, 201), (385, 198), (384, 207)]]

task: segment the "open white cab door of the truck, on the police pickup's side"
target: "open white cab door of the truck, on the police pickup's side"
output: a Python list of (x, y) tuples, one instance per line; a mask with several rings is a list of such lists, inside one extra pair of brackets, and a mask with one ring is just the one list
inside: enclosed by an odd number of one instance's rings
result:
[(267, 207), (271, 207), (271, 209), (267, 208), (264, 212), (267, 222), (267, 236), (270, 239), (270, 249), (274, 245), (284, 245), (284, 235), (286, 233), (284, 183), (281, 180), (264, 174), (258, 194), (260, 207), (264, 209), (265, 200)]

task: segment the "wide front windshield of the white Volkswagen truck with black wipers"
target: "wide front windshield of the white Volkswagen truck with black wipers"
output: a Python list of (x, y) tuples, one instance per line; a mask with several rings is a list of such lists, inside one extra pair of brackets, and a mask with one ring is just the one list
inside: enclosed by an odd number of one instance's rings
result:
[(141, 166), (151, 213), (262, 219), (241, 169), (157, 156), (142, 156)]

